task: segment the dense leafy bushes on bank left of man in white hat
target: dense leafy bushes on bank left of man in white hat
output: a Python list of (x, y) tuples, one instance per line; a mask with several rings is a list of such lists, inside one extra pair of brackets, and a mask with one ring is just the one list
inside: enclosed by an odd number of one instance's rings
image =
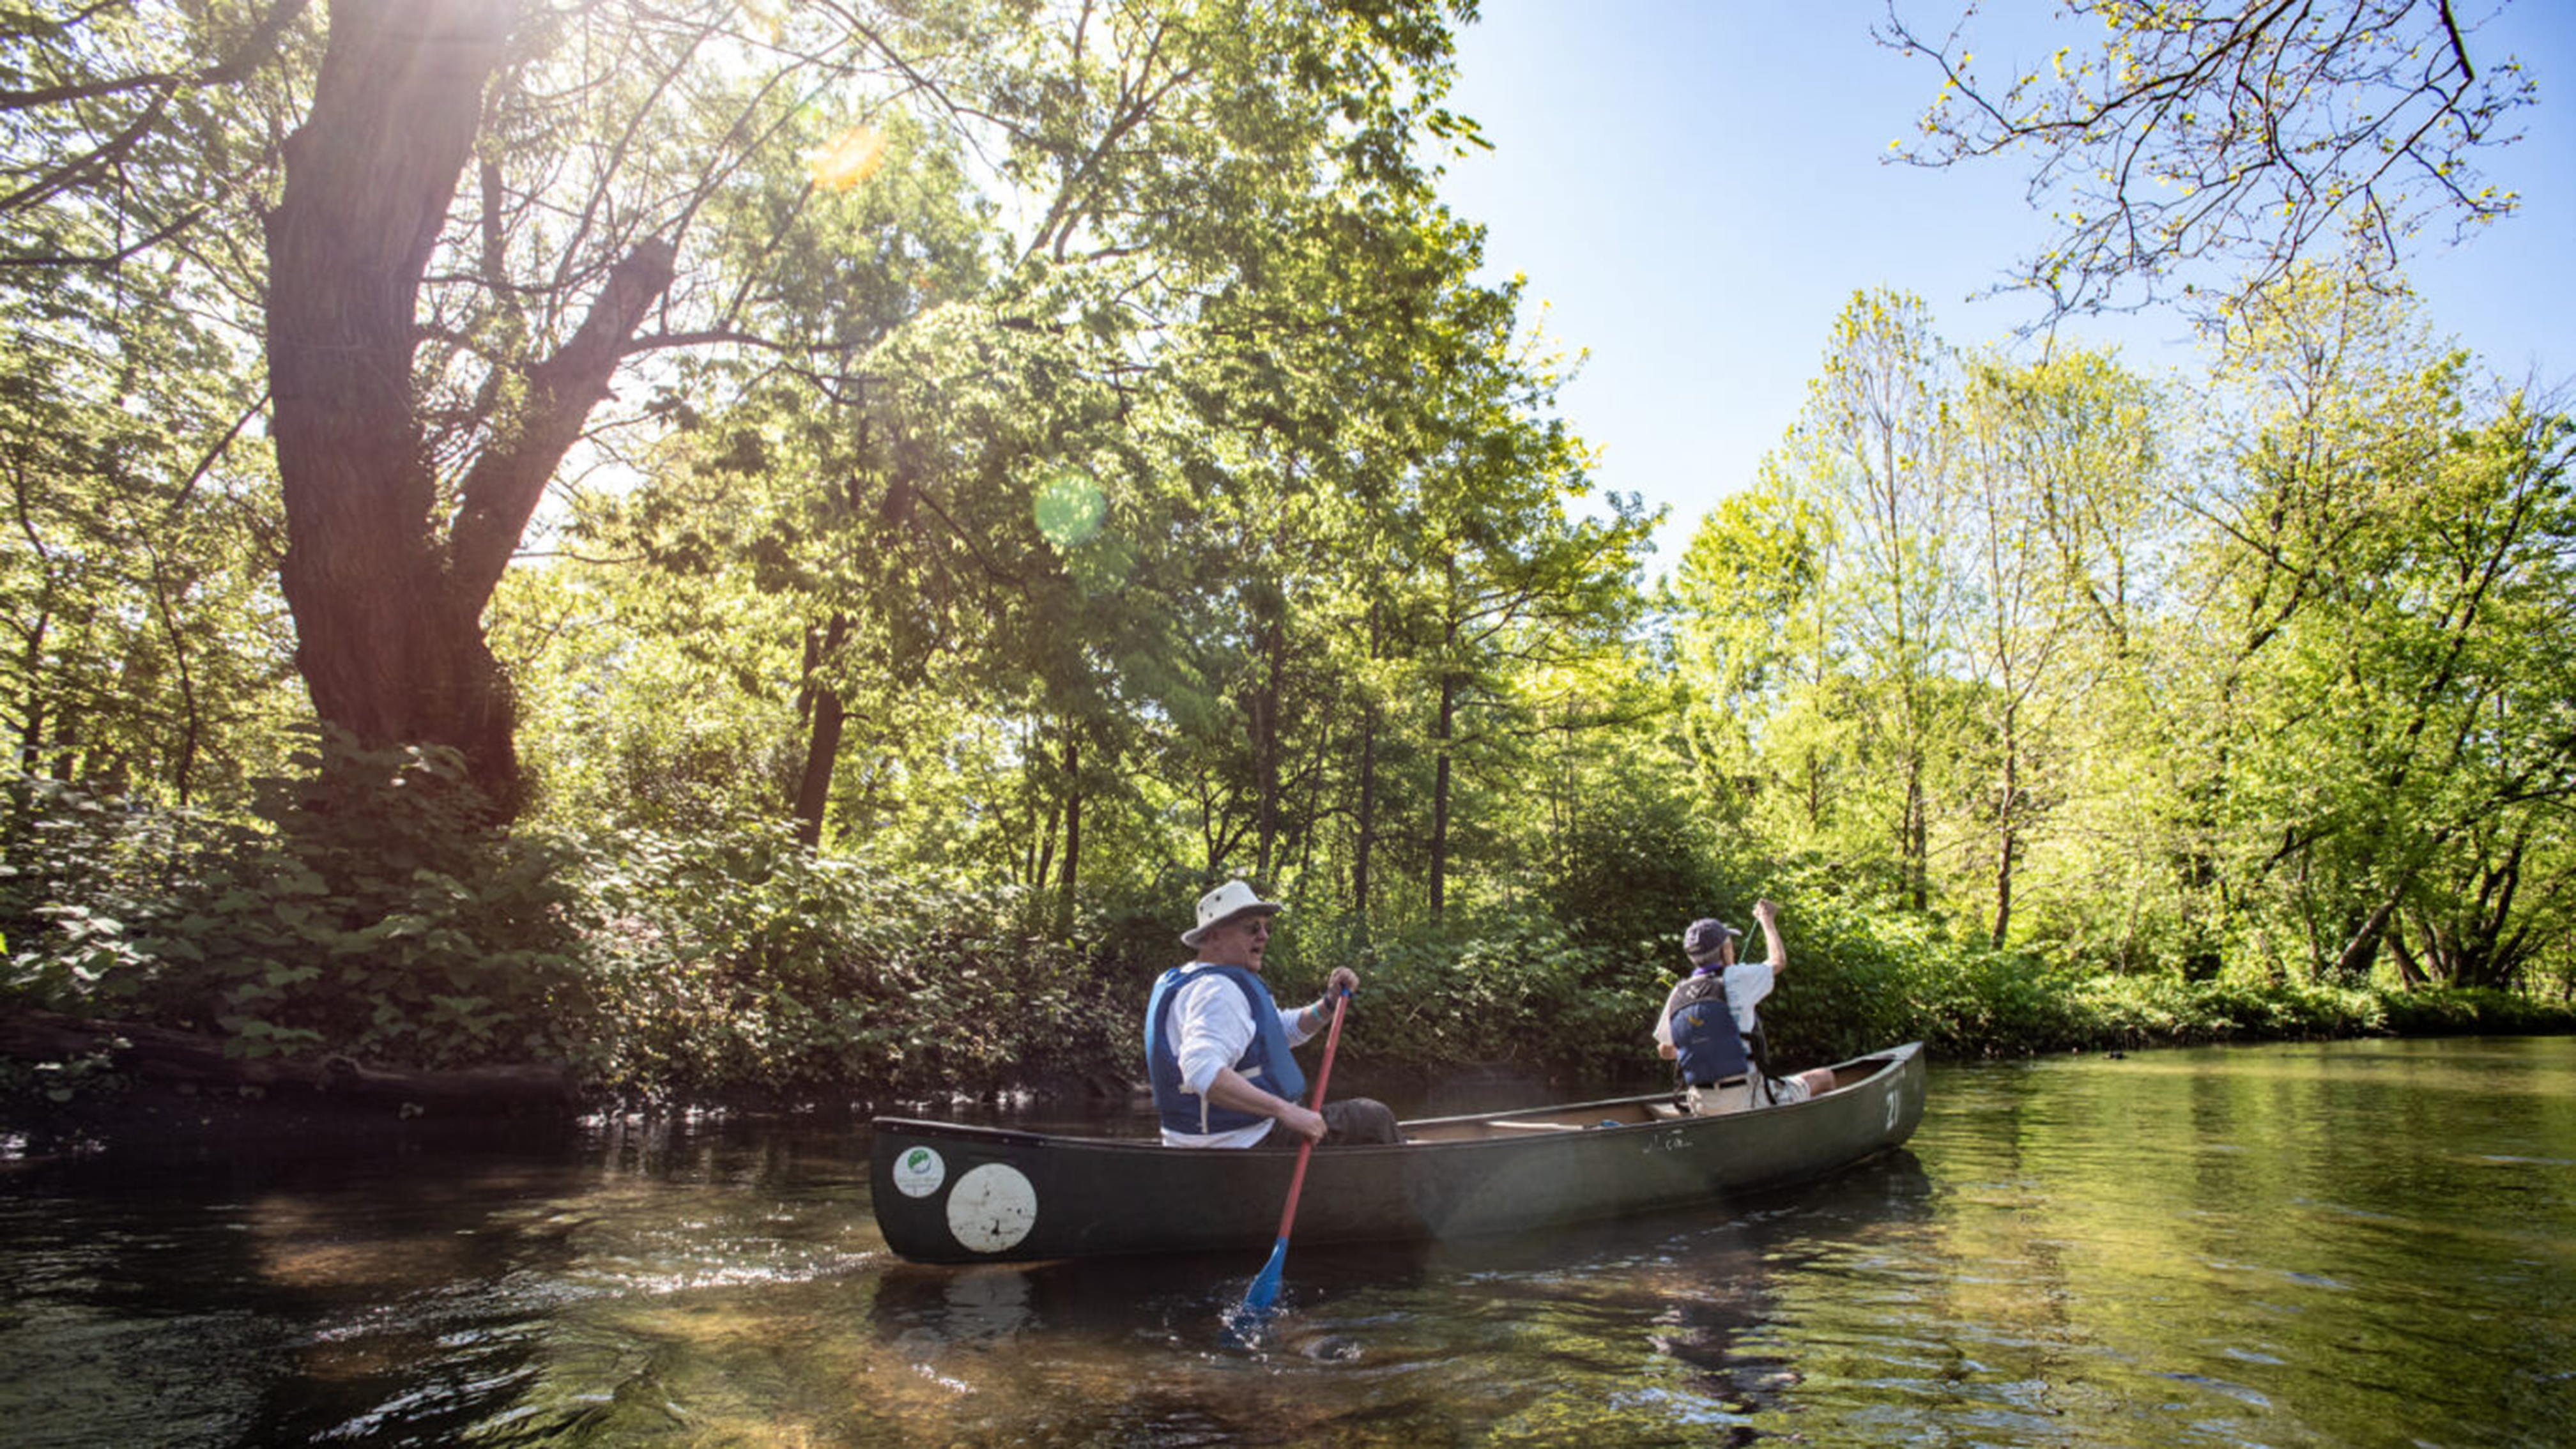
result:
[[(281, 804), (286, 804), (281, 799)], [(492, 835), (453, 755), (330, 750), (276, 828), (18, 781), (5, 998), (242, 1057), (564, 1062), (634, 1096), (1079, 1080), (1131, 1006), (1012, 892), (817, 859), (781, 828)], [(1115, 1042), (1115, 1044), (1113, 1044)]]

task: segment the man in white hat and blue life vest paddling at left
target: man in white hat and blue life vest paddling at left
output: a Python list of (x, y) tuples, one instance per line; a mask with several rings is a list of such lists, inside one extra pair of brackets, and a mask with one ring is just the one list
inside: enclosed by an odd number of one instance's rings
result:
[[(1314, 1142), (1396, 1142), (1396, 1114), (1365, 1096), (1301, 1104), (1306, 1075), (1291, 1047), (1332, 1021), (1334, 993), (1358, 972), (1334, 967), (1324, 995), (1280, 1011), (1262, 982), (1270, 918), (1285, 910), (1239, 879), (1198, 897), (1198, 926), (1180, 933), (1198, 959), (1154, 982), (1144, 1008), (1144, 1060), (1167, 1147), (1296, 1147)], [(1288, 1127), (1273, 1132), (1273, 1124)]]

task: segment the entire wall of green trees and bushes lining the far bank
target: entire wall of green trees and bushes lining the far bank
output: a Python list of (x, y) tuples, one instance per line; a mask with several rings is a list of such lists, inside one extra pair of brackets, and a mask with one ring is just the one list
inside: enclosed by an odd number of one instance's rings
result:
[(1790, 1060), (2576, 1024), (2576, 428), (2385, 276), (1857, 291), (1656, 575), (1471, 5), (139, 10), (0, 34), (0, 1011), (1113, 1085), (1249, 877), (1383, 1073), (1646, 1075), (1754, 895)]

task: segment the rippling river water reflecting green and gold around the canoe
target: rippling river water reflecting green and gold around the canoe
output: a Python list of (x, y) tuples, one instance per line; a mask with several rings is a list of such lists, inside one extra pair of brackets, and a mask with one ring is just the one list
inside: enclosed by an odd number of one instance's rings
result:
[(1291, 1248), (1229, 1346), (1255, 1269), (894, 1261), (858, 1127), (0, 1137), (0, 1444), (2555, 1446), (2576, 1039), (1935, 1065), (1795, 1194)]

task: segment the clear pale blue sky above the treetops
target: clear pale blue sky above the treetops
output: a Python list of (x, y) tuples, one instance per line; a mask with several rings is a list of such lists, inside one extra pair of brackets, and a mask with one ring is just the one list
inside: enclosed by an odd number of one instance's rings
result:
[[(2092, 28), (2035, 26), (1999, 0), (1971, 46), (2045, 59)], [(1940, 34), (1955, 0), (1906, 0)], [(2470, 0), (2463, 15), (2483, 8)], [(1597, 482), (1669, 505), (1654, 572), (1700, 516), (1744, 487), (1795, 418), (1826, 327), (1860, 286), (1919, 294), (1953, 343), (2004, 343), (2030, 299), (1971, 302), (2045, 219), (2009, 162), (1888, 165), (1940, 85), (1870, 41), (1878, 0), (1484, 0), (1458, 41), (1450, 106), (1492, 152), (1448, 162), (1443, 196), (1489, 227), (1486, 266), (1525, 273), (1546, 325), (1589, 361), (1558, 407), (1602, 451)], [(2045, 41), (2043, 41), (2045, 36)], [(2540, 85), (2524, 139), (2486, 165), (2517, 217), (2409, 263), (2437, 333), (2488, 369), (2576, 379), (2576, 3), (2519, 0), (2470, 36), (2481, 64), (2514, 54)], [(1984, 64), (1981, 64), (1984, 70)], [(2002, 70), (2002, 64), (1996, 64)], [(2195, 366), (2174, 315), (2071, 322), (2133, 366)]]

